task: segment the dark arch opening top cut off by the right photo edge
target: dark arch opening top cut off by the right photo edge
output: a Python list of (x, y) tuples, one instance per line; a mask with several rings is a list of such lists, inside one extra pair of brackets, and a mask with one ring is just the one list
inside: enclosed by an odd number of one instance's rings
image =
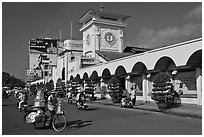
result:
[(186, 66), (202, 67), (202, 50), (194, 52), (188, 59)]

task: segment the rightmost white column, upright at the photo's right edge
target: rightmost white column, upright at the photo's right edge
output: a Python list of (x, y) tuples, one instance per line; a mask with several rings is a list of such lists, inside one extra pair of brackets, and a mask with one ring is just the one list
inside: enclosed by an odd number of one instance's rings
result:
[(198, 106), (202, 106), (202, 70), (200, 67), (196, 68), (196, 87), (197, 87), (197, 100)]

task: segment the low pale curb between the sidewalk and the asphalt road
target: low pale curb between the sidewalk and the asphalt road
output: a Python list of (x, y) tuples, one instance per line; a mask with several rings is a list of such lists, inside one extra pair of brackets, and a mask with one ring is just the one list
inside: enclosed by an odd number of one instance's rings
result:
[[(114, 103), (101, 103), (101, 102), (95, 102), (92, 101), (91, 103), (97, 103), (97, 104), (101, 104), (101, 105), (107, 105), (107, 106), (116, 106), (116, 107), (120, 107), (118, 104), (114, 104)], [(193, 114), (193, 113), (187, 113), (187, 112), (178, 112), (175, 110), (159, 110), (158, 108), (154, 108), (154, 107), (138, 107), (136, 106), (133, 109), (138, 109), (138, 110), (146, 110), (146, 111), (154, 111), (154, 112), (160, 112), (160, 113), (165, 113), (165, 114), (171, 114), (171, 115), (176, 115), (176, 116), (182, 116), (182, 117), (192, 117), (192, 118), (198, 118), (198, 119), (202, 119), (202, 114)]]

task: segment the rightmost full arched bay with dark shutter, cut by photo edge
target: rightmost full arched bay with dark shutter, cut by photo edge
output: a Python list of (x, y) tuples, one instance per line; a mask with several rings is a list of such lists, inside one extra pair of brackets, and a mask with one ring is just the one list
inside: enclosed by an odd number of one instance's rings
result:
[(175, 90), (182, 90), (182, 98), (201, 104), (202, 99), (202, 50), (194, 52), (185, 66), (178, 66), (175, 75)]

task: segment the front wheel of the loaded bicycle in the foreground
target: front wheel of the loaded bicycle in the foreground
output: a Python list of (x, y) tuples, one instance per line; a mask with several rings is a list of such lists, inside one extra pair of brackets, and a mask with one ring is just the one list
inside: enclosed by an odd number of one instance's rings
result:
[(60, 132), (65, 129), (67, 120), (64, 115), (55, 115), (52, 120), (52, 127), (55, 131)]

